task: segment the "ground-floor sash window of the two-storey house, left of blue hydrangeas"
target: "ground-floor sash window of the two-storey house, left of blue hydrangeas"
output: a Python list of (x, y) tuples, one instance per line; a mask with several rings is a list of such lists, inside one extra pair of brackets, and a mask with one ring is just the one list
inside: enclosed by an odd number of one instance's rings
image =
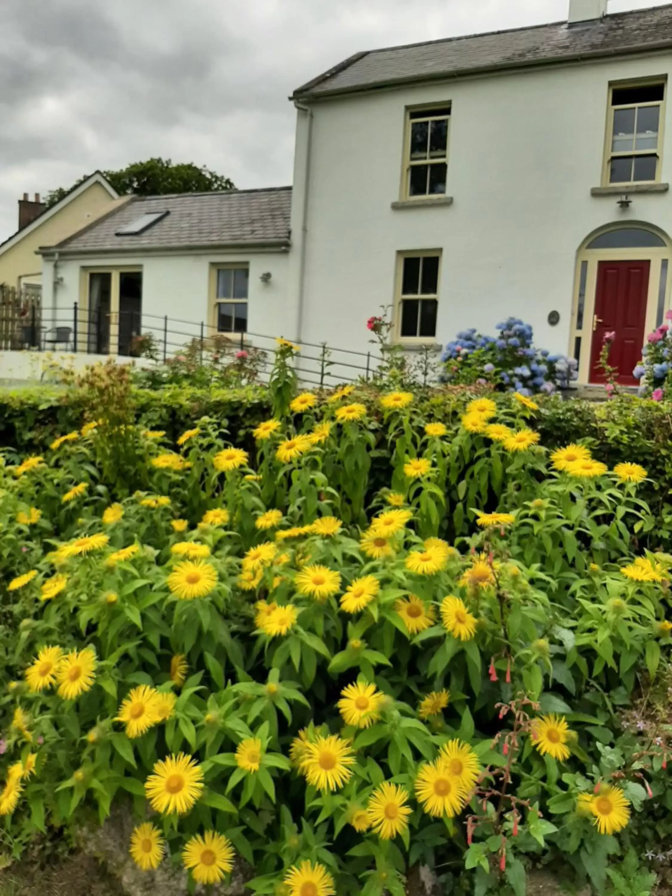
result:
[(439, 306), (441, 253), (400, 253), (397, 263), (397, 340), (433, 342)]

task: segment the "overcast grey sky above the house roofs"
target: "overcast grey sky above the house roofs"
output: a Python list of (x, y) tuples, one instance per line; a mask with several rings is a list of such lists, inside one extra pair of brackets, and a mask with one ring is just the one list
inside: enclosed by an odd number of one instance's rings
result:
[[(664, 2), (664, 0), (663, 0)], [(289, 93), (358, 50), (566, 18), (569, 0), (0, 0), (0, 240), (16, 201), (163, 156), (291, 183)], [(610, 12), (662, 5), (611, 0)]]

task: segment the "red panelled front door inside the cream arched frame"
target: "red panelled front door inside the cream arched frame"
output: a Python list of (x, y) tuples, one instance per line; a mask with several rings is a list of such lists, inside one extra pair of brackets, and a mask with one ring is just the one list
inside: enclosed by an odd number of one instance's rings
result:
[(615, 332), (609, 364), (618, 368), (618, 382), (633, 386), (633, 369), (642, 358), (650, 262), (600, 262), (595, 293), (590, 383), (604, 383), (599, 353), (606, 332)]

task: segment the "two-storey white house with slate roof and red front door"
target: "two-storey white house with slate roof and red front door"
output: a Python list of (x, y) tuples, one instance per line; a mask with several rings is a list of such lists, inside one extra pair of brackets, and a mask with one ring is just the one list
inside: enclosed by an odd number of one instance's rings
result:
[[(672, 5), (358, 53), (296, 90), (298, 340), (445, 344), (509, 315), (624, 383), (670, 305)], [(667, 125), (667, 127), (666, 127)]]

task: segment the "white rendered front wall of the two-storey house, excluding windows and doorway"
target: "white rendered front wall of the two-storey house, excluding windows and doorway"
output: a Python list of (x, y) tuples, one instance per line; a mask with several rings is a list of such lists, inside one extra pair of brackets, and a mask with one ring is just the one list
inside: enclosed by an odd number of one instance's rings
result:
[[(601, 185), (609, 82), (669, 73), (665, 54), (314, 102), (299, 339), (366, 351), (366, 319), (391, 305), (397, 252), (441, 249), (436, 341), (514, 314), (542, 348), (567, 353), (576, 253), (594, 229), (638, 220), (672, 234), (672, 195), (592, 197)], [(400, 199), (404, 109), (452, 103), (451, 207), (392, 210)], [(672, 180), (672, 104), (662, 181)], [(305, 179), (298, 112), (295, 184)], [(296, 187), (295, 187), (296, 189)], [(292, 233), (303, 227), (302, 203)], [(296, 252), (296, 246), (293, 248)], [(298, 290), (292, 259), (290, 293)], [(547, 323), (550, 311), (560, 323)]]

